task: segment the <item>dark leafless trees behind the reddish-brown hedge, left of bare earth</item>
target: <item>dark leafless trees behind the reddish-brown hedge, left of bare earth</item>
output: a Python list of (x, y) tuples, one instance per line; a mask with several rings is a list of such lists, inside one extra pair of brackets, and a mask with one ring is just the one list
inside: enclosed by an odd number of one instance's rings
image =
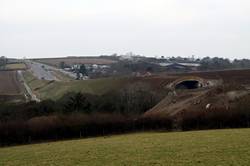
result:
[(44, 100), (22, 104), (1, 104), (0, 121), (22, 119), (37, 116), (71, 113), (119, 113), (126, 116), (140, 115), (156, 105), (166, 92), (156, 90), (145, 83), (131, 83), (104, 95), (68, 93), (59, 100)]

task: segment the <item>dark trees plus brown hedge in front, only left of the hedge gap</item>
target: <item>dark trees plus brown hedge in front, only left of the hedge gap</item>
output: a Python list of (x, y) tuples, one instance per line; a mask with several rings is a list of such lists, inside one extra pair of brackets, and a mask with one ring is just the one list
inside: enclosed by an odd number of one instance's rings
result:
[[(165, 128), (164, 120), (140, 116), (156, 105), (165, 92), (144, 83), (131, 84), (104, 95), (68, 93), (57, 101), (1, 104), (0, 144), (124, 133)], [(162, 128), (161, 127), (161, 128)]]

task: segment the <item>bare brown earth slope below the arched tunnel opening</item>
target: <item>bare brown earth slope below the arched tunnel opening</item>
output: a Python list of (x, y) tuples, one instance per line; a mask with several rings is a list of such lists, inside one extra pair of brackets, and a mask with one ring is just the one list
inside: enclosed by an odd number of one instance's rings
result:
[(229, 110), (250, 91), (240, 85), (227, 84), (209, 89), (183, 90), (169, 93), (159, 104), (147, 111), (144, 117), (178, 118), (183, 112)]

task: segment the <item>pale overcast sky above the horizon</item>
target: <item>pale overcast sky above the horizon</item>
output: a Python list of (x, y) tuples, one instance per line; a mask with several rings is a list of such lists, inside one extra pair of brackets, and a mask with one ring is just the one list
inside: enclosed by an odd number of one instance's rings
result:
[(249, 0), (0, 0), (0, 56), (250, 58)]

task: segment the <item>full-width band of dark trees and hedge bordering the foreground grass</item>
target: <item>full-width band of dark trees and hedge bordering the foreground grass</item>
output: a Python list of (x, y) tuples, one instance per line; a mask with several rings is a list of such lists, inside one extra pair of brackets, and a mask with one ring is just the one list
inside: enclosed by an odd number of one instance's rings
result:
[(0, 145), (150, 130), (250, 127), (250, 96), (228, 110), (187, 110), (178, 118), (142, 116), (165, 95), (134, 84), (101, 96), (70, 93), (57, 101), (1, 104)]

